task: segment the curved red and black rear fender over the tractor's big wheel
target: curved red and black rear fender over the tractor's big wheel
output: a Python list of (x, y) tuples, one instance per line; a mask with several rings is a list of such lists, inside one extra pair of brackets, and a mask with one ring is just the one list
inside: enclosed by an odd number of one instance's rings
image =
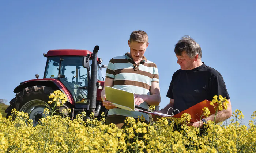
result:
[(20, 85), (18, 85), (14, 89), (14, 93), (18, 93), (19, 91), (25, 89), (26, 87), (31, 86), (48, 86), (52, 87), (54, 90), (60, 90), (65, 95), (67, 95), (68, 102), (71, 104), (75, 104), (72, 95), (69, 93), (68, 89), (58, 80), (58, 79), (51, 79), (51, 78), (45, 78), (45, 79), (32, 79), (28, 81), (21, 82)]

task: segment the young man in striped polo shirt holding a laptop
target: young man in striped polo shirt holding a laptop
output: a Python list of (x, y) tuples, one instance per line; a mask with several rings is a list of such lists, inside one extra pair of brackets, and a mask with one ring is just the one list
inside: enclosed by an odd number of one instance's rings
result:
[(109, 61), (104, 88), (101, 92), (103, 105), (109, 110), (106, 118), (107, 125), (114, 123), (121, 129), (126, 117), (136, 119), (143, 115), (145, 122), (149, 121), (149, 117), (146, 113), (116, 108), (111, 102), (106, 101), (105, 86), (134, 93), (136, 108), (148, 111), (148, 105), (159, 105), (161, 97), (157, 66), (144, 56), (148, 44), (146, 32), (133, 31), (128, 40), (130, 52)]

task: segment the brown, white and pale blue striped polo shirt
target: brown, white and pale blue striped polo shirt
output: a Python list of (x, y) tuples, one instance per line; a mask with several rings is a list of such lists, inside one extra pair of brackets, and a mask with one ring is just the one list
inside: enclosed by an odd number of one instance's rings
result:
[[(158, 69), (155, 63), (147, 60), (144, 56), (143, 59), (135, 64), (129, 53), (123, 56), (117, 56), (109, 61), (106, 78), (114, 79), (113, 87), (134, 94), (150, 95), (150, 87), (152, 82), (159, 83)], [(120, 99), (121, 101), (122, 99)], [(148, 111), (149, 107), (146, 102), (141, 103), (136, 108)], [(138, 118), (143, 115), (148, 121), (148, 114), (138, 111), (128, 111), (124, 109), (114, 108), (110, 109), (108, 116), (122, 115)]]

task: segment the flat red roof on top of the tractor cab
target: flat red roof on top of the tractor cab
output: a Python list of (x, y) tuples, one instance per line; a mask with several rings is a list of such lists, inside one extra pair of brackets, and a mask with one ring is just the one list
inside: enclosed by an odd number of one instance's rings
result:
[[(73, 49), (60, 49), (60, 50), (49, 50), (46, 54), (46, 57), (50, 56), (86, 56), (90, 54), (92, 56), (92, 52), (89, 50), (73, 50)], [(98, 62), (99, 58), (97, 57)]]

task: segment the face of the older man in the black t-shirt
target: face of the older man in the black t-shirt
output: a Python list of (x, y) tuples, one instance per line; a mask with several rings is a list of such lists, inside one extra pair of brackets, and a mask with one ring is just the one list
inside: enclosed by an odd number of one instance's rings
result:
[(191, 70), (193, 69), (193, 62), (195, 58), (190, 59), (185, 51), (182, 52), (181, 56), (177, 56), (177, 63), (180, 65), (181, 70)]

